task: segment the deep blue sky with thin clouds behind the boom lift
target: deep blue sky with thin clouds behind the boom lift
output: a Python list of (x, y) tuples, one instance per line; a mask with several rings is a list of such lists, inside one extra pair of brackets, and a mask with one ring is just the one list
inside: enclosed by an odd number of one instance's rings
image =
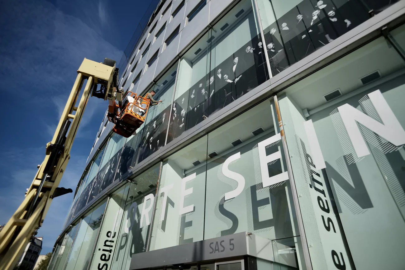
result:
[[(119, 61), (150, 1), (0, 1), (0, 224), (24, 198), (83, 58)], [(90, 98), (61, 187), (73, 191), (108, 102)], [(38, 236), (52, 251), (73, 194), (55, 198)]]

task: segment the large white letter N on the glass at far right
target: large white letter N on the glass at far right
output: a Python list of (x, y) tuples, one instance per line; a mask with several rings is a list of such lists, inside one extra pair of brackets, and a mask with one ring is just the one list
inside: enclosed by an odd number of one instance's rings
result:
[(398, 119), (396, 119), (381, 92), (375, 90), (368, 94), (368, 96), (384, 124), (376, 121), (349, 104), (344, 104), (337, 108), (358, 157), (369, 155), (370, 152), (369, 149), (367, 149), (367, 145), (364, 142), (356, 121), (388, 140), (393, 145), (400, 146), (405, 144), (405, 130), (402, 128)]

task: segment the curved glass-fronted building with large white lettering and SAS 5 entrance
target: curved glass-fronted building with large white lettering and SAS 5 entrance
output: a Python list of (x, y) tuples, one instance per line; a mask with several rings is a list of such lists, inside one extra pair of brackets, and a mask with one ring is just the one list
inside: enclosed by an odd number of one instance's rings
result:
[(405, 269), (405, 2), (152, 4), (48, 270)]

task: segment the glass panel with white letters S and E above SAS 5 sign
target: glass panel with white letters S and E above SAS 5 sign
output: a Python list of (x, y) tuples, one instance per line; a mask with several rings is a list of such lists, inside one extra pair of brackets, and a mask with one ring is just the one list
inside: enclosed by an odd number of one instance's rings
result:
[(299, 236), (274, 110), (271, 98), (208, 134), (205, 239)]

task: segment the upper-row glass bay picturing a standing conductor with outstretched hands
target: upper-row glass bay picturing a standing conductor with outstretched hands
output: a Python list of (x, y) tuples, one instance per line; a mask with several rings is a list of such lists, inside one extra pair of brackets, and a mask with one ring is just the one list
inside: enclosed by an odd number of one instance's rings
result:
[(167, 142), (269, 79), (251, 1), (213, 29), (180, 60)]

